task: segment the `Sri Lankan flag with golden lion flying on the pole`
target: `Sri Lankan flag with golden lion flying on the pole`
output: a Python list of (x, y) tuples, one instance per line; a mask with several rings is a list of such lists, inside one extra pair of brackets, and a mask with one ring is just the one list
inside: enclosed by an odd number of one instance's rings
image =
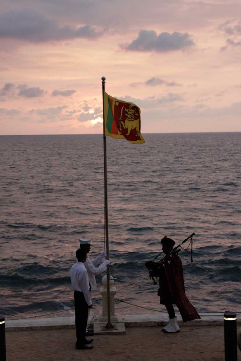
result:
[(125, 138), (130, 143), (142, 144), (141, 110), (134, 103), (119, 100), (104, 93), (105, 135)]

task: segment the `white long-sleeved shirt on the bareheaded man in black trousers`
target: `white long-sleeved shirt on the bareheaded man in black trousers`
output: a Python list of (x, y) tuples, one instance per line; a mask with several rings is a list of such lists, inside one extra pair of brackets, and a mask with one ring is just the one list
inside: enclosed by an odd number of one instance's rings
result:
[(70, 268), (71, 285), (74, 290), (83, 292), (87, 305), (92, 305), (90, 297), (89, 277), (83, 262), (76, 262)]

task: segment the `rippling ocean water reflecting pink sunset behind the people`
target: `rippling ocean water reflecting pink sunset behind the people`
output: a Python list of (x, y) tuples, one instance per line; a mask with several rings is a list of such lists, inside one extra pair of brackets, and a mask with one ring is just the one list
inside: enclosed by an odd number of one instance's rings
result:
[[(145, 261), (168, 235), (181, 251), (186, 294), (199, 312), (240, 312), (241, 132), (107, 137), (109, 254), (116, 297), (165, 310)], [(78, 238), (104, 249), (102, 135), (0, 136), (0, 314), (74, 306), (69, 269)], [(187, 242), (188, 243), (188, 242)], [(186, 245), (186, 244), (185, 244)], [(188, 245), (188, 244), (187, 244)], [(96, 277), (100, 286), (104, 274)], [(94, 313), (101, 313), (99, 290)], [(116, 301), (116, 314), (153, 313)]]

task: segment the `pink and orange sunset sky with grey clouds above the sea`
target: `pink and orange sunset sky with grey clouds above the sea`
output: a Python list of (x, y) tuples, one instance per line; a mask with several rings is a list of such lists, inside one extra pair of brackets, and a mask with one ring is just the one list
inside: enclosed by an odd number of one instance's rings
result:
[(142, 133), (241, 131), (240, 1), (0, 4), (0, 135), (102, 133), (102, 76)]

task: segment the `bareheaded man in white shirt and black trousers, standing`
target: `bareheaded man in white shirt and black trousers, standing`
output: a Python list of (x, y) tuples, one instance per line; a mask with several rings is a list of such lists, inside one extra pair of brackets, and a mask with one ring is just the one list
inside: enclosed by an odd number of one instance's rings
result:
[(85, 338), (88, 310), (92, 308), (89, 277), (84, 265), (87, 253), (77, 249), (76, 257), (78, 261), (70, 268), (71, 285), (74, 289), (76, 349), (91, 349), (93, 346), (87, 346), (87, 344), (91, 343), (93, 339), (86, 340)]

